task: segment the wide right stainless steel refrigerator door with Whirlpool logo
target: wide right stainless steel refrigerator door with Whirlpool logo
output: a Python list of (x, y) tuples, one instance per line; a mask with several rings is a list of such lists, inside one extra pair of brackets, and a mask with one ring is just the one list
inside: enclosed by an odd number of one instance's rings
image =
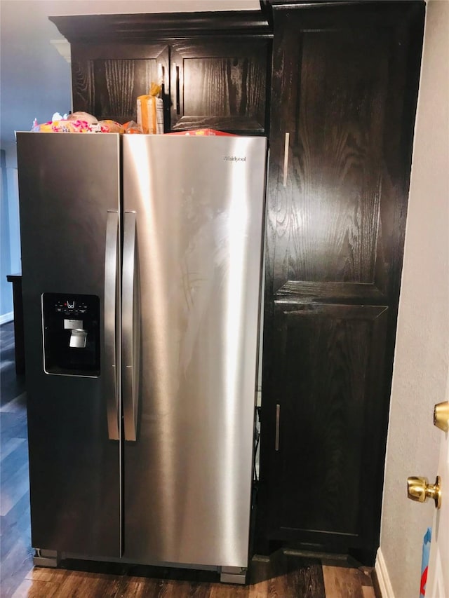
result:
[(123, 137), (126, 559), (247, 565), (266, 152)]

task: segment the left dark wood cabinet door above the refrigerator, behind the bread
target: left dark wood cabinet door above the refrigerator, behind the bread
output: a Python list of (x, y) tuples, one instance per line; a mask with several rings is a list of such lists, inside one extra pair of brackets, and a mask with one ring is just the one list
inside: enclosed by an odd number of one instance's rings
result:
[(137, 98), (153, 82), (168, 97), (169, 56), (166, 43), (72, 44), (74, 111), (94, 114), (99, 121), (137, 121)]

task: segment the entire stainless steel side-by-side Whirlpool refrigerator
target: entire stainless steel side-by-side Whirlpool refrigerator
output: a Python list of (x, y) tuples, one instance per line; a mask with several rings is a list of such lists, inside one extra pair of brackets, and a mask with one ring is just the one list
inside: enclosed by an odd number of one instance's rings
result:
[(35, 562), (241, 581), (266, 140), (17, 144)]

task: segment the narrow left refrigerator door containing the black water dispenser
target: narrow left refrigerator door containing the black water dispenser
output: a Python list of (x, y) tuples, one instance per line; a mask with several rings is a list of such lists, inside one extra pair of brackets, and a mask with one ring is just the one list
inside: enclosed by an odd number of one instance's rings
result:
[(17, 142), (32, 545), (119, 557), (120, 139)]

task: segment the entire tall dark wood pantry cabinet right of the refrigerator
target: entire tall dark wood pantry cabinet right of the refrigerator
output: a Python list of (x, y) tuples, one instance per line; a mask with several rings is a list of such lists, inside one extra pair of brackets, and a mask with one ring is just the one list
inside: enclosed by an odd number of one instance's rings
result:
[(424, 4), (271, 4), (259, 548), (369, 563)]

